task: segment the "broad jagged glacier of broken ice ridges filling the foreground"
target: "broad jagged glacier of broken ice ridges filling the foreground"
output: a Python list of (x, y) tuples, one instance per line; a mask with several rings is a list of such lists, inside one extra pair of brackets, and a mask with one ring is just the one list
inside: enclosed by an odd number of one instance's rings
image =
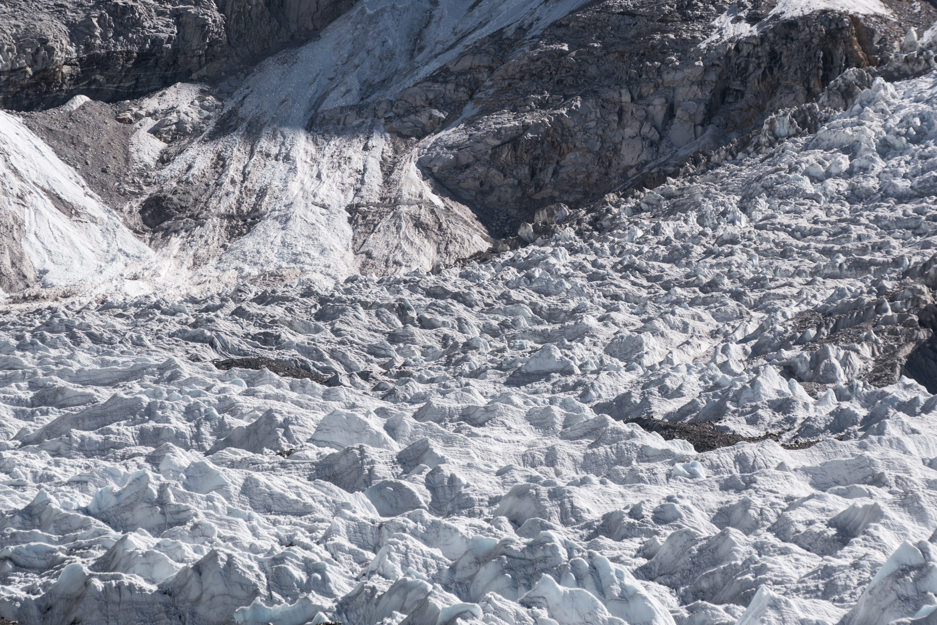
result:
[(482, 264), (7, 313), (0, 617), (930, 618), (937, 77), (833, 89)]

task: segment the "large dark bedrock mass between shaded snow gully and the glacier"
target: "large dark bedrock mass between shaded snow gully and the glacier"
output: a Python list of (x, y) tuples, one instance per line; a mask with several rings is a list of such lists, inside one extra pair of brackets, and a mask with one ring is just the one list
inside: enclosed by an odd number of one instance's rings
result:
[(376, 116), (398, 135), (435, 134), (419, 164), (494, 236), (514, 235), (549, 204), (698, 169), (844, 70), (884, 67), (905, 33), (896, 14), (787, 19), (774, 6), (729, 7), (722, 17), (744, 26), (730, 36), (714, 30), (725, 7), (711, 3), (590, 4), (536, 41), (501, 31), (393, 98), (320, 112), (309, 127)]

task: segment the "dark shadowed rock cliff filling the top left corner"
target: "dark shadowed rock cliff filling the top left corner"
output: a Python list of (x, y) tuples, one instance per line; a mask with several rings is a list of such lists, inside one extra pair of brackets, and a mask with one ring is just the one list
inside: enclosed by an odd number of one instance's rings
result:
[(313, 37), (351, 4), (23, 0), (0, 5), (0, 108), (47, 109), (77, 94), (112, 102), (173, 82), (222, 82)]

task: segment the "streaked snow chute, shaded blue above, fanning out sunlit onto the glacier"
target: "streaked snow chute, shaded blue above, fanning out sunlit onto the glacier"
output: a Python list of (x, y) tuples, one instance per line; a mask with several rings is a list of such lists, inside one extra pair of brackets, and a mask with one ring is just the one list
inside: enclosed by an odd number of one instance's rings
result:
[[(364, 244), (374, 250), (366, 258), (380, 264), (371, 269), (381, 274), (429, 270), (487, 249), (491, 239), (472, 211), (440, 197), (416, 167), (416, 151), (401, 150), (379, 120), (346, 133), (305, 128), (315, 112), (379, 101), (419, 82), (496, 29), (523, 24), (536, 34), (578, 4), (361, 2), (316, 41), (261, 64), (216, 123), (237, 129), (210, 132), (156, 176), (167, 194), (223, 184), (200, 199), (207, 223), (158, 251), (153, 279), (280, 269), (344, 278), (355, 273), (363, 245), (352, 242), (349, 207), (395, 208)], [(256, 225), (229, 246), (226, 218), (239, 214)]]

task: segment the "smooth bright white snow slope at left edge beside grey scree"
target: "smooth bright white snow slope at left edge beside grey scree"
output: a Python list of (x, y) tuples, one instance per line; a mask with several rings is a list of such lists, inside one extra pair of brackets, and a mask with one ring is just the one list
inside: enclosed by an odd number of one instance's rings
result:
[(86, 290), (153, 256), (81, 176), (5, 112), (0, 112), (0, 211), (4, 290), (22, 290), (37, 280), (45, 287)]

